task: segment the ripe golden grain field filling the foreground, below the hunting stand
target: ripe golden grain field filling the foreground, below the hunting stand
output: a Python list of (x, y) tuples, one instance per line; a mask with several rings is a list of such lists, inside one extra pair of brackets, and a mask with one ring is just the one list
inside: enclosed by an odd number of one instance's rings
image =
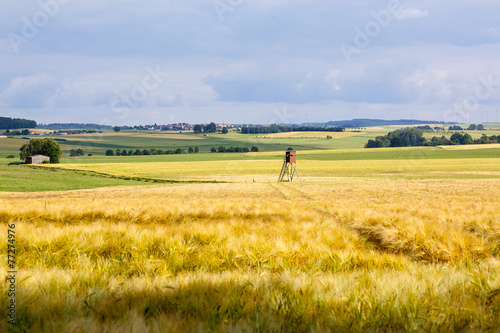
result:
[(373, 174), (0, 192), (0, 220), (19, 331), (498, 332), (499, 196)]

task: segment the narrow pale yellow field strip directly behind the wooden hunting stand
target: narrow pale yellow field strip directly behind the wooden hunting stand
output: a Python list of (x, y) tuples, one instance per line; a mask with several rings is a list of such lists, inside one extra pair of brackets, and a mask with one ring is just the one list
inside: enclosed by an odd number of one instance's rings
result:
[[(265, 154), (265, 153), (264, 153)], [(369, 154), (369, 153), (367, 153)], [(338, 176), (372, 177), (408, 173), (431, 175), (488, 174), (500, 177), (500, 158), (428, 159), (426, 150), (411, 152), (411, 159), (300, 161), (299, 173), (306, 180), (333, 180)], [(321, 154), (319, 154), (321, 155)], [(196, 161), (150, 163), (99, 163), (49, 165), (52, 168), (83, 170), (118, 177), (145, 177), (176, 181), (275, 182), (282, 166), (280, 160)], [(278, 171), (277, 171), (278, 170)], [(333, 183), (335, 184), (335, 183)]]

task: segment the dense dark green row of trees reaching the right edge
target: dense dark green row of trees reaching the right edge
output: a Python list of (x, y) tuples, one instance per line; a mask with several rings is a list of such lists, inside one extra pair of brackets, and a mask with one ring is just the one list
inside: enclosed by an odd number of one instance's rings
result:
[(447, 146), (500, 143), (500, 135), (483, 136), (474, 140), (468, 133), (454, 133), (449, 139), (444, 135), (433, 137), (430, 141), (423, 137), (424, 131), (418, 128), (405, 128), (389, 132), (384, 136), (377, 136), (375, 140), (368, 140), (365, 148), (381, 147), (411, 147), (411, 146)]

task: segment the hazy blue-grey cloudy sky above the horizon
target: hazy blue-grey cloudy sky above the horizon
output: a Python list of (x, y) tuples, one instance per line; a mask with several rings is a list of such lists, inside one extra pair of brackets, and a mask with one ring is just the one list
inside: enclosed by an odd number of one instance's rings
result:
[(16, 0), (0, 116), (39, 123), (494, 122), (493, 0)]

